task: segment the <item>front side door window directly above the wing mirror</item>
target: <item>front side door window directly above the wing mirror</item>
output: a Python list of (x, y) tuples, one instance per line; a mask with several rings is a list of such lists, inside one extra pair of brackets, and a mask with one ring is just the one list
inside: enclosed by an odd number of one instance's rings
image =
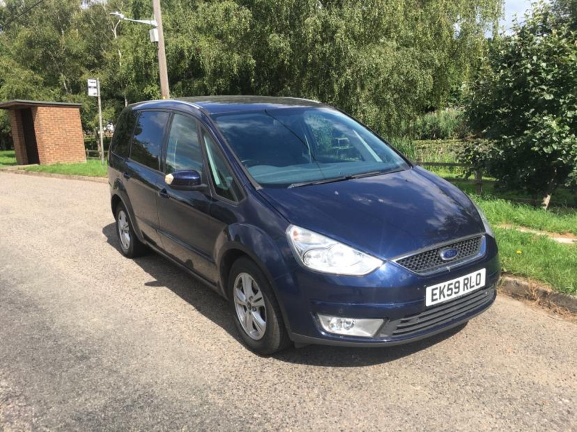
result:
[(166, 172), (192, 169), (203, 173), (203, 152), (198, 142), (196, 120), (175, 114), (168, 136)]

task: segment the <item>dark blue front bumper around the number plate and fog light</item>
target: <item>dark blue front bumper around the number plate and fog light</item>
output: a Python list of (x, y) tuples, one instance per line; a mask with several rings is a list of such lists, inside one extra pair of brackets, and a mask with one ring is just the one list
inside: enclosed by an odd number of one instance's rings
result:
[[(425, 306), (427, 286), (481, 268), (486, 269), (484, 287), (462, 297)], [(433, 275), (417, 275), (396, 263), (387, 262), (379, 270), (362, 277), (319, 274), (295, 267), (293, 274), (275, 282), (278, 283), (294, 342), (387, 346), (432, 336), (484, 312), (496, 298), (499, 278), (497, 245), (490, 238), (483, 257)], [(325, 331), (318, 314), (384, 321), (372, 337), (344, 336)]]

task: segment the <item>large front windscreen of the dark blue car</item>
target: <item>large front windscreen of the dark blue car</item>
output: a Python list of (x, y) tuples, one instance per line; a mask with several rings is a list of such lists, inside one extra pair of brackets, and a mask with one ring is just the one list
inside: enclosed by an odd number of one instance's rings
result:
[(295, 187), (409, 167), (367, 128), (330, 108), (224, 113), (214, 119), (263, 187)]

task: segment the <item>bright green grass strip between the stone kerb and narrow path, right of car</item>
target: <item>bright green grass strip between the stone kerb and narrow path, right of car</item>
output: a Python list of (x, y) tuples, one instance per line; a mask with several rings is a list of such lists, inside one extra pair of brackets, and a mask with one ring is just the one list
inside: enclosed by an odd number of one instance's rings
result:
[(494, 228), (503, 271), (577, 294), (577, 246), (515, 229)]

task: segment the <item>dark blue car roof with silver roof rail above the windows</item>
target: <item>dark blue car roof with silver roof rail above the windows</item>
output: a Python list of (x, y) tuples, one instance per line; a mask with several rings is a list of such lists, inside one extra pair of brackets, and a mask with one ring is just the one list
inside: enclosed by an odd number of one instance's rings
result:
[[(194, 96), (167, 100), (143, 101), (130, 105), (138, 108), (171, 108), (183, 103), (201, 109), (208, 115), (237, 111), (260, 111), (262, 109), (322, 107), (317, 101), (296, 97), (276, 96)], [(143, 106), (144, 105), (144, 106)]]

